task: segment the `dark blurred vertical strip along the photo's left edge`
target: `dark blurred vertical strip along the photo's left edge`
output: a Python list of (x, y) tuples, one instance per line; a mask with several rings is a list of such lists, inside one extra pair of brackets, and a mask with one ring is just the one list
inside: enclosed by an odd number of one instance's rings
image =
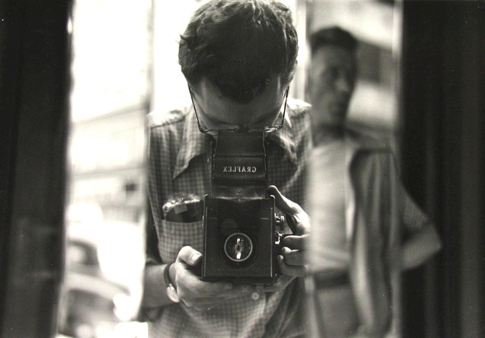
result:
[(1, 38), (2, 119), (13, 122), (1, 144), (8, 184), (0, 336), (52, 337), (64, 272), (70, 1), (3, 0), (1, 6), (8, 25)]

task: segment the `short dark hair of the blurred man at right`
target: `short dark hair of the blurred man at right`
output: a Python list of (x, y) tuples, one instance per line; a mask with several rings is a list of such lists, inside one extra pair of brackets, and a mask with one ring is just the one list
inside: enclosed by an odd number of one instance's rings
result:
[(310, 34), (310, 50), (313, 54), (315, 50), (322, 46), (334, 45), (348, 49), (354, 53), (357, 49), (357, 39), (348, 31), (338, 26), (322, 28)]

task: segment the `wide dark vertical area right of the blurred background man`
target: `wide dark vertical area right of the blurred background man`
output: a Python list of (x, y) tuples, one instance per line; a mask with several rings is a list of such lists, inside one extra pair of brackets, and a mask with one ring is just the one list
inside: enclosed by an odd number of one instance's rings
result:
[(404, 1), (403, 179), (444, 245), (406, 274), (405, 337), (484, 335), (484, 5)]

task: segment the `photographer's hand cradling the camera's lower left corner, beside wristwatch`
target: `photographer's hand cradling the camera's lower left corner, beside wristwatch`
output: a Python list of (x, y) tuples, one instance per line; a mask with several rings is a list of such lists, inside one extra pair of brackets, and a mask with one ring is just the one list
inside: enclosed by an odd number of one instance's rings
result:
[[(172, 281), (175, 281), (178, 297), (188, 307), (198, 310), (209, 310), (228, 300), (248, 294), (252, 287), (249, 285), (233, 285), (227, 282), (205, 282), (194, 274), (191, 267), (202, 262), (202, 254), (191, 246), (180, 249), (172, 266)], [(175, 276), (174, 276), (175, 275)]]

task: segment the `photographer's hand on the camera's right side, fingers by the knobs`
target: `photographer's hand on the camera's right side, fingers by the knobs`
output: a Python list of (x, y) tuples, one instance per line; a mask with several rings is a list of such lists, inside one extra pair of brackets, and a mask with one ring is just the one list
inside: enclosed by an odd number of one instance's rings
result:
[(275, 206), (286, 214), (286, 220), (293, 232), (283, 240), (284, 247), (281, 255), (277, 257), (279, 268), (284, 275), (279, 277), (274, 285), (265, 288), (265, 291), (279, 291), (290, 284), (295, 277), (307, 274), (305, 250), (310, 217), (298, 204), (281, 195), (274, 185), (268, 187), (268, 193), (275, 196)]

